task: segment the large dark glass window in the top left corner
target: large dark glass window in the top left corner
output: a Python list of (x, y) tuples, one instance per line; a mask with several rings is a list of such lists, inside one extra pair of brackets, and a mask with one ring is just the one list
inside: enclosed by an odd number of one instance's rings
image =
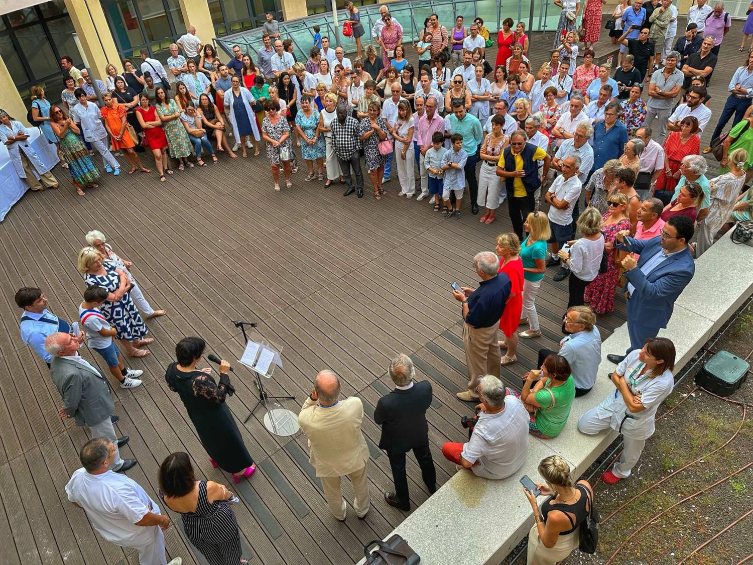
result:
[(73, 41), (74, 31), (63, 0), (45, 2), (0, 17), (0, 57), (27, 105), (35, 84), (45, 88), (50, 102), (59, 102), (61, 56), (70, 56), (73, 64), (81, 68), (81, 56)]

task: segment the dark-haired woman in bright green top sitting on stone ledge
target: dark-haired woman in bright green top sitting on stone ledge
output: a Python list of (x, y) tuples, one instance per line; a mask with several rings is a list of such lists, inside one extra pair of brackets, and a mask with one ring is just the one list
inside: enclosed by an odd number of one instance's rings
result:
[(575, 380), (570, 364), (561, 355), (544, 359), (541, 371), (526, 373), (520, 400), (531, 414), (529, 432), (538, 438), (556, 438), (565, 427), (575, 399)]

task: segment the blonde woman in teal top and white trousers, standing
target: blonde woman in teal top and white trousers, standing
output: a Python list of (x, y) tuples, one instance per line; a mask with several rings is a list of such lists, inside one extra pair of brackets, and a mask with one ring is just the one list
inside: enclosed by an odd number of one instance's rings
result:
[(527, 322), (528, 329), (518, 335), (528, 339), (541, 335), (535, 301), (541, 279), (547, 270), (547, 240), (551, 235), (549, 218), (544, 212), (531, 212), (523, 223), (523, 230), (529, 235), (520, 244), (520, 258), (523, 260), (523, 310), (520, 313), (520, 323)]

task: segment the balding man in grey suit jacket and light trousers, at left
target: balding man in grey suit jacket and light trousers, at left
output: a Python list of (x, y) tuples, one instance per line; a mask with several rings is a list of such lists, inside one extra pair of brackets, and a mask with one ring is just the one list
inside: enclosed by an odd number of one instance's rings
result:
[(115, 458), (110, 469), (127, 471), (136, 465), (135, 459), (120, 458), (118, 447), (127, 444), (128, 436), (118, 438), (112, 427), (115, 408), (110, 385), (97, 368), (78, 354), (81, 341), (71, 334), (56, 331), (47, 336), (44, 350), (49, 353), (50, 376), (62, 396), (60, 417), (75, 417), (77, 426), (87, 426), (92, 438), (108, 438), (115, 445)]

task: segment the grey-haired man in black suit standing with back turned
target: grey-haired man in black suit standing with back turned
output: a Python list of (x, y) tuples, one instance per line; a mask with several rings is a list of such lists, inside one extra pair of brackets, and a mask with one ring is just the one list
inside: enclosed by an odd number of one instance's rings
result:
[(374, 422), (382, 426), (379, 447), (387, 452), (395, 481), (395, 492), (384, 493), (384, 499), (395, 508), (410, 510), (405, 476), (405, 454), (408, 451), (413, 450), (428, 491), (434, 494), (437, 490), (437, 472), (428, 447), (426, 423), (426, 410), (431, 405), (433, 394), (428, 380), (413, 382), (416, 369), (410, 357), (403, 353), (392, 359), (389, 376), (395, 383), (395, 390), (384, 395), (374, 409)]

